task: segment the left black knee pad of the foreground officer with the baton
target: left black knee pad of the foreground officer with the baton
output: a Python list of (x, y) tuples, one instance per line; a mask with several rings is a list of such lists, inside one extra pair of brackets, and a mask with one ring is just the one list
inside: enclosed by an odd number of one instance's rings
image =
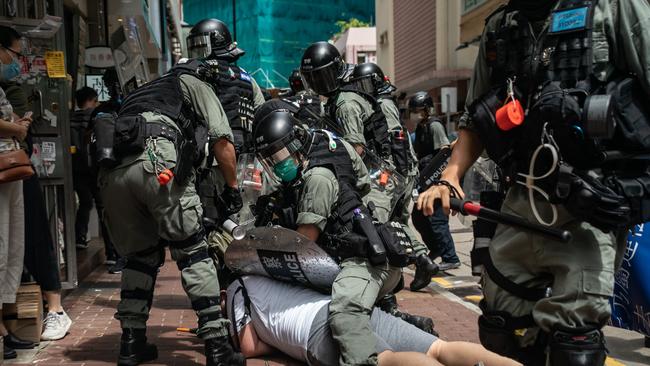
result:
[(478, 334), (483, 347), (501, 356), (515, 359), (526, 366), (545, 366), (546, 337), (540, 334), (535, 344), (521, 348), (515, 329), (535, 326), (532, 317), (512, 317), (507, 312), (484, 312), (478, 319)]

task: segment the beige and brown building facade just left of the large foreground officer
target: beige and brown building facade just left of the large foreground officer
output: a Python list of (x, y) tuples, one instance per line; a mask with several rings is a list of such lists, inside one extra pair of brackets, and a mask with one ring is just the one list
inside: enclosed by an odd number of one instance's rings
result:
[(462, 111), (485, 17), (504, 1), (377, 0), (377, 62), (402, 100), (426, 90), (438, 113)]

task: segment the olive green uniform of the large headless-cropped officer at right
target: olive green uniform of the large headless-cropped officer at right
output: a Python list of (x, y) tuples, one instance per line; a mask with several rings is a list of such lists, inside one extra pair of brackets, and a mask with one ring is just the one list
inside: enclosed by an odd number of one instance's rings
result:
[[(501, 16), (486, 24), (479, 55), (470, 82), (467, 105), (480, 98), (493, 85), (486, 63), (486, 34), (496, 30)], [(650, 4), (645, 0), (600, 0), (595, 9), (593, 30), (594, 74), (608, 80), (616, 69), (637, 75), (650, 95)], [(539, 24), (538, 24), (539, 25)], [(547, 29), (547, 28), (546, 28)], [(538, 38), (540, 47), (544, 37)], [(472, 128), (471, 120), (465, 128)], [(542, 217), (549, 218), (548, 203), (536, 199)], [(536, 222), (523, 187), (510, 189), (503, 211)], [(499, 226), (490, 243), (490, 255), (496, 268), (509, 280), (526, 287), (550, 287), (552, 294), (532, 302), (500, 288), (486, 274), (483, 292), (487, 311), (506, 311), (513, 316), (532, 312), (535, 323), (544, 331), (553, 328), (578, 328), (604, 324), (610, 318), (614, 272), (625, 248), (625, 233), (618, 239), (580, 221), (558, 206), (556, 227), (570, 230), (573, 240), (560, 243), (508, 226)], [(615, 260), (615, 258), (617, 258)], [(543, 278), (550, 274), (554, 280)], [(515, 332), (520, 346), (531, 345), (538, 329)]]

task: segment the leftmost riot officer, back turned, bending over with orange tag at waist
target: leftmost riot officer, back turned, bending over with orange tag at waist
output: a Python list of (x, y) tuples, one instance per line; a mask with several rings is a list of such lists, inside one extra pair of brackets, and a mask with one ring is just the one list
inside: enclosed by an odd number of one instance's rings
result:
[[(106, 146), (114, 136), (116, 161), (100, 172), (105, 218), (118, 253), (127, 257), (116, 318), (122, 326), (119, 365), (157, 357), (147, 343), (158, 267), (165, 247), (181, 271), (182, 284), (198, 316), (208, 365), (242, 364), (228, 337), (219, 305), (219, 283), (207, 252), (202, 210), (194, 188), (195, 169), (208, 137), (226, 181), (224, 202), (241, 208), (236, 189), (235, 148), (226, 114), (206, 82), (211, 69), (201, 61), (181, 61), (171, 71), (133, 91), (115, 120), (115, 133), (97, 133)], [(98, 115), (97, 128), (104, 126)], [(104, 160), (104, 164), (108, 164)]]

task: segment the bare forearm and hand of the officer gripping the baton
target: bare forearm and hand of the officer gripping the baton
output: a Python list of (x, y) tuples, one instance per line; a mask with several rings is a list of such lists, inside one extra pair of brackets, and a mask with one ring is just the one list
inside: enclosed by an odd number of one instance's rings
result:
[[(440, 179), (452, 184), (461, 197), (464, 197), (463, 190), (460, 187), (460, 179), (483, 152), (483, 144), (476, 132), (468, 129), (460, 130), (457, 141), (452, 150), (449, 165), (442, 172)], [(445, 214), (449, 215), (449, 197), (449, 188), (443, 185), (434, 185), (420, 194), (417, 209), (422, 210), (425, 216), (431, 216), (433, 215), (434, 202), (440, 199)]]

